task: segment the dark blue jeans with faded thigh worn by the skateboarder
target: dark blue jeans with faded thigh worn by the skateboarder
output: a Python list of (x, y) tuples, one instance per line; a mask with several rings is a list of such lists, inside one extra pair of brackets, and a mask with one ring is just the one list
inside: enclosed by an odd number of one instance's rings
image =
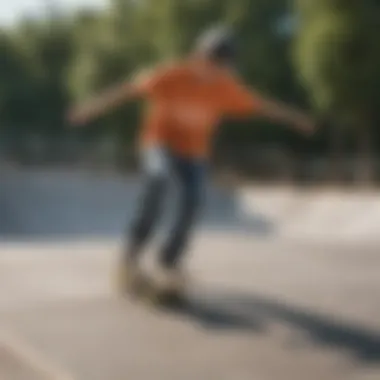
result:
[(130, 231), (130, 254), (136, 258), (151, 237), (161, 216), (168, 182), (174, 177), (178, 184), (179, 203), (176, 207), (175, 224), (160, 252), (160, 262), (165, 267), (179, 264), (199, 213), (204, 187), (206, 165), (203, 160), (180, 157), (162, 151), (165, 164), (160, 166), (159, 157), (147, 152), (144, 166), (144, 184), (140, 194), (139, 210)]

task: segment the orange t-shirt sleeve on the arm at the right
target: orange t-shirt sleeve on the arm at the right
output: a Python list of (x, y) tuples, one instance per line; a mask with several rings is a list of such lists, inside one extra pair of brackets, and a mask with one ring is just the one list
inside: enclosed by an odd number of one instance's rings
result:
[(228, 117), (246, 117), (260, 112), (262, 100), (236, 79), (224, 84), (223, 113)]

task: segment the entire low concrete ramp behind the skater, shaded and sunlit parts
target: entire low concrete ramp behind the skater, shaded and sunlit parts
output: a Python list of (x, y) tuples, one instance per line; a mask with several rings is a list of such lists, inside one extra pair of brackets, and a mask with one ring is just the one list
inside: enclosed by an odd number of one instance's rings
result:
[[(139, 194), (138, 179), (72, 172), (2, 175), (1, 237), (122, 234)], [(167, 197), (173, 218), (175, 193)], [(377, 240), (376, 193), (209, 185), (201, 228), (258, 236)], [(163, 223), (167, 225), (167, 223)]]

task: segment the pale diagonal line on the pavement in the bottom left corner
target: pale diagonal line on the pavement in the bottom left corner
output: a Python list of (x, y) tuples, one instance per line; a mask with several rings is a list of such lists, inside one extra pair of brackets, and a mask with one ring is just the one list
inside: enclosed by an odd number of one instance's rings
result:
[(6, 331), (3, 329), (0, 331), (0, 343), (33, 370), (46, 375), (52, 380), (78, 380), (61, 365), (51, 360), (18, 334), (8, 330), (8, 328)]

